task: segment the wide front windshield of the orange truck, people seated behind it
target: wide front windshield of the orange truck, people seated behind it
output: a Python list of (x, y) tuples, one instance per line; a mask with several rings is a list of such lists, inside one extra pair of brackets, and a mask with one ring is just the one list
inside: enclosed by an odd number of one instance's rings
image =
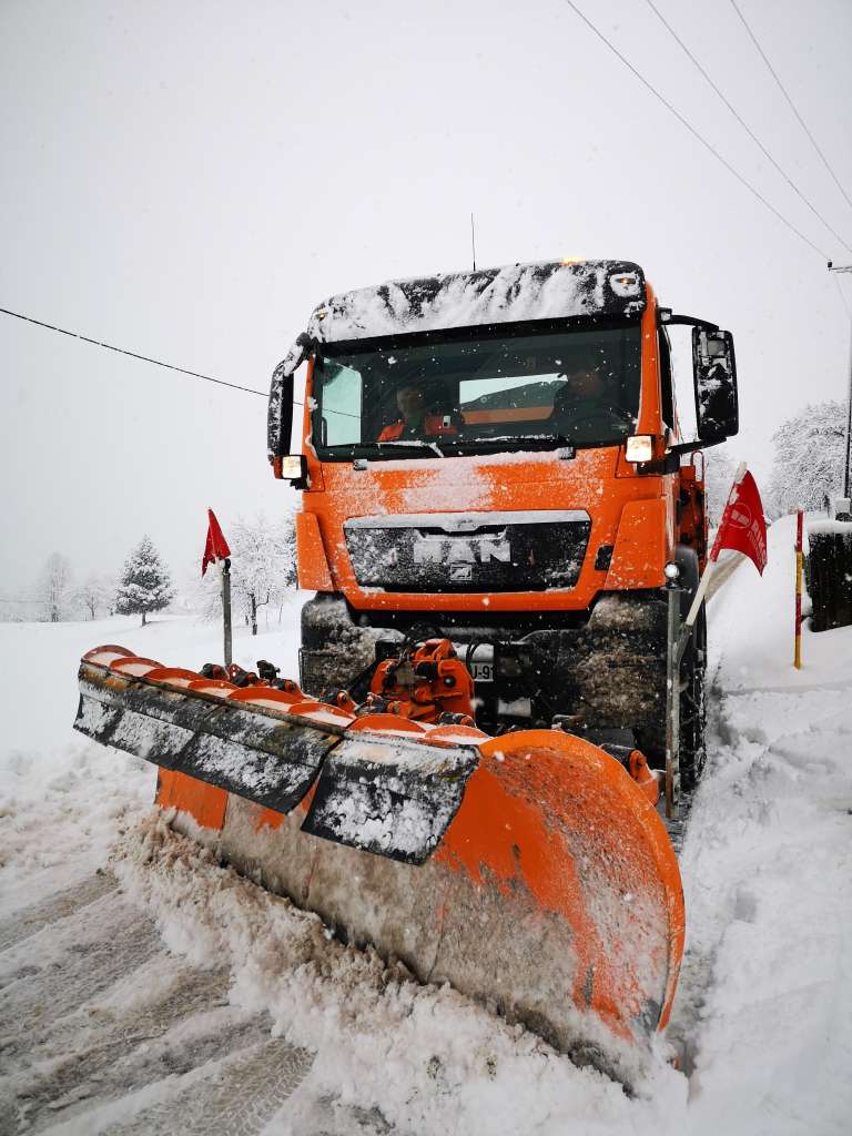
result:
[(315, 369), (320, 457), (449, 457), (605, 445), (638, 412), (637, 324), (326, 344)]

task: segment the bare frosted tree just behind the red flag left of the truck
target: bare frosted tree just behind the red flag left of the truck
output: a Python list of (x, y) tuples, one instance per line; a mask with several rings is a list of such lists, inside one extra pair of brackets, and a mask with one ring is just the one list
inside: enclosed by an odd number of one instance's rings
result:
[[(281, 604), (295, 587), (295, 532), (293, 517), (268, 521), (262, 513), (252, 520), (239, 517), (228, 526), (231, 548), (231, 602), (234, 617), (242, 615), (252, 635), (258, 633), (260, 609)], [(208, 573), (203, 609), (209, 618), (222, 613), (219, 574)]]

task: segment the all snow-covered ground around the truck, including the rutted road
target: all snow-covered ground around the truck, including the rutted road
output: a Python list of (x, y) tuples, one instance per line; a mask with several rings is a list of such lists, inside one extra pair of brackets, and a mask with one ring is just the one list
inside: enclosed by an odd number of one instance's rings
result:
[[(152, 767), (72, 732), (84, 650), (198, 667), (215, 628), (0, 625), (0, 1133), (849, 1131), (852, 628), (805, 632), (793, 671), (792, 543), (772, 526), (765, 578), (743, 563), (710, 605), (685, 1056), (676, 1071), (659, 1046), (634, 1099), (328, 939), (164, 829)], [(298, 605), (237, 661), (295, 676)]]

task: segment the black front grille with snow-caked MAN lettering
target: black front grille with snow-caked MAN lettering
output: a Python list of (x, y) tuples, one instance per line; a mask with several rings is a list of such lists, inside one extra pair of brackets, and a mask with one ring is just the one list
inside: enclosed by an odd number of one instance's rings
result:
[(346, 548), (361, 587), (543, 592), (574, 587), (591, 520), (580, 510), (356, 517)]

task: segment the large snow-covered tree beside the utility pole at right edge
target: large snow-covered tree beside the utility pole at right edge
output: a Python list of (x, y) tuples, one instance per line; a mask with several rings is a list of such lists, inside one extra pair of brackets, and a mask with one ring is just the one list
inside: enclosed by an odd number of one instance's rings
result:
[(821, 509), (843, 488), (846, 406), (809, 403), (775, 432), (769, 507), (778, 517), (795, 509)]

